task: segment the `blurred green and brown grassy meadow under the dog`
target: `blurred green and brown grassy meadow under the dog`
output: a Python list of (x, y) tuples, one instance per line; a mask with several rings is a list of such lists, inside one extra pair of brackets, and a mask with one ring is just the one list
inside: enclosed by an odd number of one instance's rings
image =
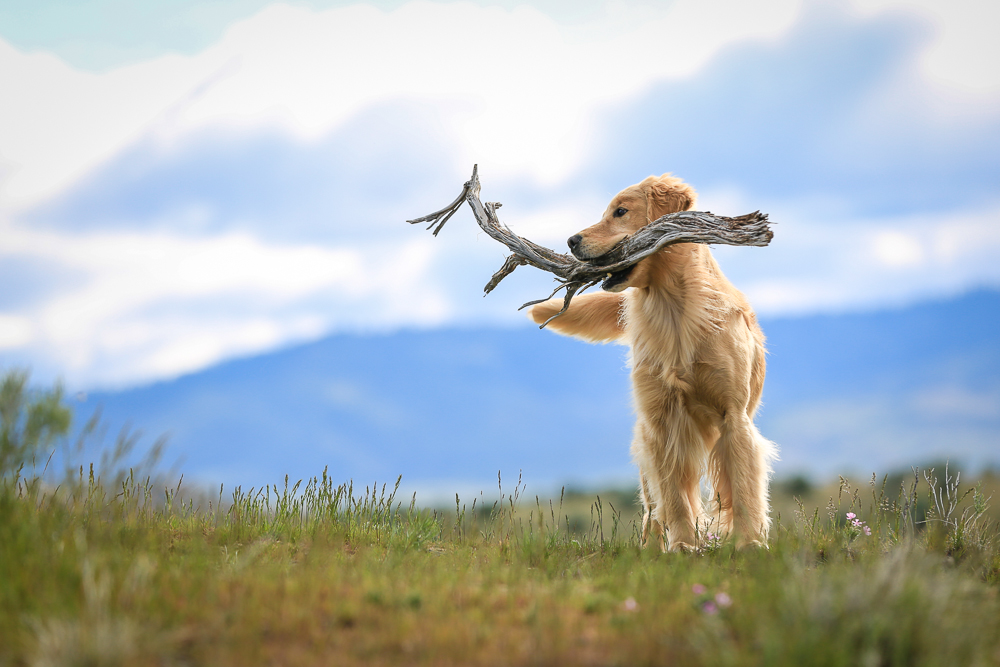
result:
[(994, 477), (777, 484), (767, 549), (663, 554), (628, 492), (187, 493), (116, 468), (127, 436), (55, 475), (69, 414), (24, 379), (0, 387), (0, 665), (1000, 663)]

